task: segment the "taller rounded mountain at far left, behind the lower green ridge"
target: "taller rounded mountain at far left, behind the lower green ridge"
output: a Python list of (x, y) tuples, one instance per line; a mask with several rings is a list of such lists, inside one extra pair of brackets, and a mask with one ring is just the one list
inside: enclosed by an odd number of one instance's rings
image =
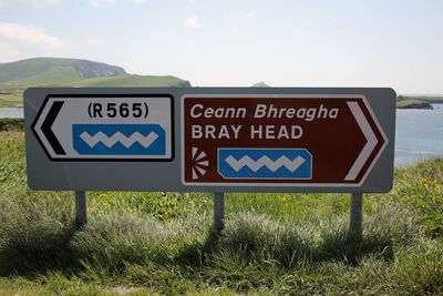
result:
[(0, 63), (0, 86), (39, 85), (127, 74), (123, 68), (76, 59), (35, 58)]

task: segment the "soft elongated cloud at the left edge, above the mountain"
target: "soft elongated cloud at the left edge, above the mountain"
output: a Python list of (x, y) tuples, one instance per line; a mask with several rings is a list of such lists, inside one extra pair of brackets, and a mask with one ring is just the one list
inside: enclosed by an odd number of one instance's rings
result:
[(24, 25), (21, 23), (0, 21), (0, 40), (19, 41), (28, 45), (37, 45), (43, 49), (71, 48), (69, 40), (60, 39), (44, 32), (42, 28)]

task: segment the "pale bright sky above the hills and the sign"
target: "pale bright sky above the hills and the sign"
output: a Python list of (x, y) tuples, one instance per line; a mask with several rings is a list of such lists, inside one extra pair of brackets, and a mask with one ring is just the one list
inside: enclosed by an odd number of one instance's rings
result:
[(78, 58), (193, 86), (443, 94), (441, 0), (0, 0), (0, 63)]

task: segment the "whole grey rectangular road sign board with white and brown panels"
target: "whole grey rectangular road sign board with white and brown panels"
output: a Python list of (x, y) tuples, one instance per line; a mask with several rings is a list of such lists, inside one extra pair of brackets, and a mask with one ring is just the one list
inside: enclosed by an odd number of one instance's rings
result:
[(33, 190), (392, 187), (391, 89), (33, 88), (24, 125)]

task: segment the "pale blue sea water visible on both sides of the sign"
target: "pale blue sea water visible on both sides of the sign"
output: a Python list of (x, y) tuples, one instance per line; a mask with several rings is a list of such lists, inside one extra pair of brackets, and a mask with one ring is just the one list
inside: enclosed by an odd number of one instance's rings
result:
[[(443, 159), (443, 104), (433, 110), (398, 109), (395, 129), (395, 166), (412, 165), (420, 160)], [(23, 118), (23, 109), (0, 108), (0, 119)]]

